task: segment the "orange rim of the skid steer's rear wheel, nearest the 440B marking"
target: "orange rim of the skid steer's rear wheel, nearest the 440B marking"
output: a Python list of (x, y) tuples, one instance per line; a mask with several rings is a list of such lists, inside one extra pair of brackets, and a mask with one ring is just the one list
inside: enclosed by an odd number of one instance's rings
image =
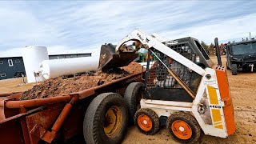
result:
[(182, 120), (174, 121), (171, 125), (171, 130), (180, 139), (186, 140), (192, 136), (192, 130), (190, 126)]

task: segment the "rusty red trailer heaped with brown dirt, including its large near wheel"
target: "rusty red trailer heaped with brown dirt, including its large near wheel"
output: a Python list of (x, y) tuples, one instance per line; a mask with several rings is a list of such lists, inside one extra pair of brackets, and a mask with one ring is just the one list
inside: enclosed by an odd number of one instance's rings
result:
[[(0, 94), (2, 143), (67, 142), (82, 135), (86, 143), (120, 143), (128, 121), (124, 95), (142, 88), (142, 66), (128, 66), (51, 78), (23, 93)], [(128, 88), (127, 88), (128, 89)], [(10, 138), (11, 136), (11, 138)]]

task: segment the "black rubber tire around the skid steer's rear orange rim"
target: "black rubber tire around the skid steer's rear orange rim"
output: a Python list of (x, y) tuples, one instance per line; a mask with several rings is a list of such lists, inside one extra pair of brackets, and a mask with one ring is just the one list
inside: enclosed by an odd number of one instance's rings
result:
[[(192, 135), (190, 138), (181, 139), (181, 138), (178, 138), (174, 134), (173, 130), (171, 129), (171, 126), (172, 126), (173, 122), (175, 122), (176, 120), (182, 120), (190, 126), (190, 128), (192, 130)], [(184, 113), (184, 112), (175, 112), (174, 114), (171, 114), (166, 122), (166, 128), (169, 130), (172, 137), (180, 143), (198, 142), (198, 140), (200, 139), (201, 132), (202, 132), (196, 119), (191, 114)]]

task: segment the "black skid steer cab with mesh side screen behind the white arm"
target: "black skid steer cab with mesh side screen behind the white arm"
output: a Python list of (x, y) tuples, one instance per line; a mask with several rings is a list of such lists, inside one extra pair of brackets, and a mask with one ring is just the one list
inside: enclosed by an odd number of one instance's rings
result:
[[(180, 38), (171, 42), (163, 42), (163, 44), (202, 68), (212, 67), (214, 65), (214, 62), (210, 60), (206, 50), (203, 49), (196, 38)], [(166, 66), (170, 66), (170, 69), (173, 70), (195, 94), (197, 93), (202, 78), (201, 75), (189, 70), (179, 62), (174, 61), (170, 63), (166, 54), (162, 54), (154, 48), (152, 48), (152, 50)], [(153, 57), (154, 62), (150, 62), (153, 61), (152, 59), (148, 59), (147, 61), (147, 73), (145, 78), (146, 91), (144, 98), (174, 102), (192, 102), (193, 98), (190, 97), (178, 82), (175, 82), (174, 78), (167, 72), (166, 67), (163, 66), (161, 62), (158, 62), (157, 58), (154, 58), (154, 54), (151, 54), (150, 50), (148, 54)]]

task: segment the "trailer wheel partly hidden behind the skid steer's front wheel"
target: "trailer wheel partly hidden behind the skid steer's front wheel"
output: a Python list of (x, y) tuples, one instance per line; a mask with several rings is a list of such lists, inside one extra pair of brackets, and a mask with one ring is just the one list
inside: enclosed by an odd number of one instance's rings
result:
[(134, 123), (134, 114), (141, 108), (140, 101), (142, 99), (142, 91), (144, 87), (142, 82), (132, 82), (126, 88), (124, 98), (128, 105), (129, 121), (131, 120), (130, 123)]

